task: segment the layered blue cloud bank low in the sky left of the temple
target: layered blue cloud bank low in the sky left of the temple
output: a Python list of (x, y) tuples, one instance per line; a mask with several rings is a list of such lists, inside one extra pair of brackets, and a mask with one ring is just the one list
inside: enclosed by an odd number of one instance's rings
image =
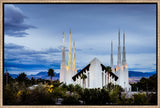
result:
[(59, 48), (36, 51), (13, 43), (4, 45), (4, 68), (10, 72), (59, 69), (60, 57)]

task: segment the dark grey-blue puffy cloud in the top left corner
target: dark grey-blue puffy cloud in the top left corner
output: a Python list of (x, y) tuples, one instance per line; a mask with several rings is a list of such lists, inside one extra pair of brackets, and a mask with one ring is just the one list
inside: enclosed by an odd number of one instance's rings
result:
[(4, 6), (4, 34), (13, 37), (25, 37), (28, 35), (26, 30), (36, 27), (25, 24), (25, 19), (27, 17), (18, 7), (6, 4)]

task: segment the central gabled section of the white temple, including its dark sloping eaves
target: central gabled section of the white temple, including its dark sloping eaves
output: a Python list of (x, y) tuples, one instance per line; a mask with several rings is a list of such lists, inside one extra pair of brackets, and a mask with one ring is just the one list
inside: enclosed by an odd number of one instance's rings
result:
[(113, 72), (107, 72), (106, 67), (97, 59), (94, 58), (86, 67), (72, 77), (74, 84), (79, 84), (82, 87), (82, 74), (85, 74), (85, 88), (103, 88), (108, 83), (116, 84), (118, 77)]

